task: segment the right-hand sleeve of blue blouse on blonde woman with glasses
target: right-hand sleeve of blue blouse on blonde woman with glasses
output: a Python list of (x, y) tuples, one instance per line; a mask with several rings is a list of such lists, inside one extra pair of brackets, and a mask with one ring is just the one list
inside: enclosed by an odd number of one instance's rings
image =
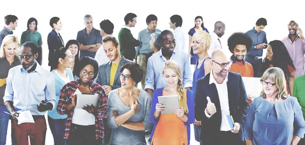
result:
[(294, 107), (294, 135), (304, 138), (305, 134), (305, 121), (302, 114), (302, 109), (295, 98), (293, 98)]

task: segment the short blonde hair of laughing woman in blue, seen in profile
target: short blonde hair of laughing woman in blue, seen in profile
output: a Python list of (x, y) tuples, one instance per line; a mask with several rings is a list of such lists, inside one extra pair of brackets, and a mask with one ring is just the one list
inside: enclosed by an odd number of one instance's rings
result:
[(193, 41), (200, 41), (200, 44), (203, 46), (204, 51), (207, 52), (209, 47), (211, 46), (211, 35), (209, 35), (204, 30), (199, 30), (193, 35), (192, 42)]

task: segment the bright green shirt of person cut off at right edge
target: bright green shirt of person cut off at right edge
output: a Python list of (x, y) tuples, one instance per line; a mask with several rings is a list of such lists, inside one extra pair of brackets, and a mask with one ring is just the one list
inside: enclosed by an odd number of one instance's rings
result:
[(296, 97), (297, 101), (300, 103), (305, 119), (305, 75), (299, 76), (294, 80), (292, 96)]

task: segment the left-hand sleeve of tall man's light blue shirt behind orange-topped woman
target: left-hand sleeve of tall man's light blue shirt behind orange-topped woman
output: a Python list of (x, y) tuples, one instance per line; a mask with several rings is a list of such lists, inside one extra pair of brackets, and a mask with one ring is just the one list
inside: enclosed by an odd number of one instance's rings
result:
[[(154, 90), (155, 85), (155, 72), (153, 66), (153, 60), (151, 58), (148, 59), (147, 69), (146, 69), (146, 78), (145, 78), (145, 89)], [(156, 104), (155, 104), (156, 105)]]

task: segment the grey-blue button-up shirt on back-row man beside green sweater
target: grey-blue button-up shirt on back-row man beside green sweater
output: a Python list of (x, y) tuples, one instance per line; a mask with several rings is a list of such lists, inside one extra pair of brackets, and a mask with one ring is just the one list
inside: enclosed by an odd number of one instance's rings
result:
[[(159, 29), (155, 29), (153, 33), (160, 32)], [(148, 27), (139, 32), (138, 40), (140, 41), (140, 46), (136, 47), (136, 56), (139, 55), (139, 53), (148, 54), (150, 52), (153, 52), (153, 50), (150, 49), (150, 35), (153, 34), (148, 31)]]

